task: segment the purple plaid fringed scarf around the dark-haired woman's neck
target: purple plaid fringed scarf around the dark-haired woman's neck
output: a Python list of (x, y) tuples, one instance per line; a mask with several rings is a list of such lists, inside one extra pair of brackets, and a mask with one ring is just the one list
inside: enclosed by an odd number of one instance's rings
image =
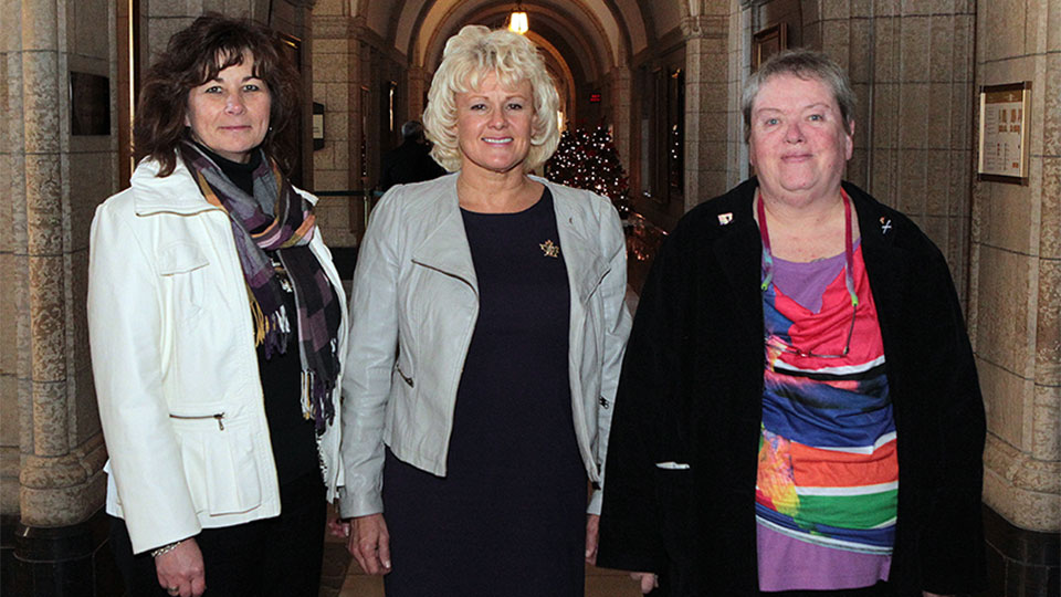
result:
[[(254, 344), (264, 343), (265, 359), (285, 353), (291, 333), (284, 290), (276, 266), (265, 253), (275, 251), (294, 287), (302, 359), (302, 413), (313, 419), (317, 433), (335, 417), (332, 392), (339, 376), (338, 329), (342, 314), (327, 274), (309, 250), (316, 231), (313, 206), (295, 192), (274, 163), (262, 156), (254, 170), (254, 196), (235, 186), (193, 143), (180, 145), (180, 156), (203, 197), (221, 208), (232, 222), (235, 250), (243, 268)], [(270, 216), (262, 201), (274, 202)]]

